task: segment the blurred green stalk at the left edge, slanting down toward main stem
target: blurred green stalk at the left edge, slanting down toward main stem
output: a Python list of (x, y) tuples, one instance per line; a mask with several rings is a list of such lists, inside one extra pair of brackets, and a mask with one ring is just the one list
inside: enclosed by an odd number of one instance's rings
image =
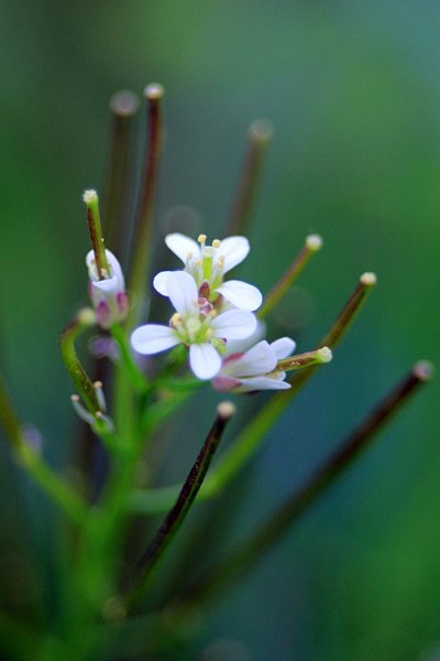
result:
[(11, 445), (16, 463), (75, 523), (82, 524), (87, 512), (81, 498), (50, 468), (38, 449), (33, 448), (23, 434), (22, 424), (10, 400), (0, 373), (0, 425)]

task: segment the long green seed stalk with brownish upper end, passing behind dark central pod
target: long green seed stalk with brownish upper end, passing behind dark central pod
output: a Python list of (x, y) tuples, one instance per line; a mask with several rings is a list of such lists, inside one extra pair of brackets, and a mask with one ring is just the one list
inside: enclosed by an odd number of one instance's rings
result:
[[(360, 311), (367, 293), (372, 290), (376, 279), (373, 273), (361, 275), (356, 288), (338, 315), (334, 324), (326, 336), (318, 343), (317, 350), (323, 347), (333, 349), (342, 339), (349, 329), (351, 322)], [(299, 390), (312, 377), (319, 365), (312, 365), (308, 369), (294, 372), (292, 388), (277, 392), (261, 409), (261, 411), (246, 424), (241, 434), (239, 434), (231, 449), (224, 453), (222, 459), (218, 463), (215, 470), (206, 479), (202, 489), (198, 496), (198, 501), (208, 500), (217, 496), (230, 480), (241, 470), (253, 457), (264, 437), (264, 434), (272, 427), (283, 411), (297, 395)], [(148, 489), (145, 491), (134, 491), (130, 506), (136, 512), (157, 512), (163, 508), (169, 507), (176, 495), (177, 487), (162, 487), (158, 489)]]

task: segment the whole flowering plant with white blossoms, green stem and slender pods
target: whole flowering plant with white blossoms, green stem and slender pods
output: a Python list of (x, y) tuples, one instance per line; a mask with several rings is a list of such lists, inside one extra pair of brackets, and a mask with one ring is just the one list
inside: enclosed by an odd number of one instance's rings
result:
[[(31, 625), (13, 613), (0, 617), (1, 627), (18, 632), (22, 640), (22, 644), (8, 650), (11, 658), (41, 661), (116, 660), (140, 654), (151, 658), (157, 648), (170, 654), (176, 641), (183, 638), (185, 625), (194, 620), (194, 614), (201, 614), (202, 605), (256, 564), (430, 373), (427, 364), (417, 364), (306, 485), (294, 491), (235, 551), (212, 561), (198, 575), (194, 572), (194, 576), (179, 576), (175, 582), (161, 581), (166, 574), (167, 548), (178, 538), (193, 506), (220, 498), (241, 474), (295, 394), (317, 373), (319, 366), (332, 359), (332, 350), (376, 279), (372, 273), (361, 275), (322, 340), (300, 354), (294, 354), (294, 339), (273, 337), (266, 322), (321, 248), (321, 238), (317, 235), (306, 238), (292, 266), (264, 297), (254, 284), (227, 279), (250, 251), (250, 242), (242, 232), (254, 191), (251, 180), (257, 175), (255, 163), (261, 163), (268, 140), (267, 127), (264, 131), (255, 127), (251, 131), (239, 185), (240, 204), (229, 227), (231, 236), (215, 239), (208, 246), (206, 235), (196, 241), (180, 232), (168, 234), (165, 243), (184, 268), (161, 270), (153, 275), (151, 246), (153, 231), (157, 231), (153, 224), (153, 202), (162, 145), (163, 89), (154, 84), (145, 94), (150, 136), (131, 246), (123, 245), (120, 231), (118, 210), (127, 207), (124, 201), (113, 196), (113, 207), (108, 206), (106, 212), (110, 251), (101, 230), (98, 195), (95, 191), (84, 195), (92, 246), (86, 258), (91, 308), (78, 312), (63, 332), (61, 343), (63, 360), (76, 389), (72, 397), (74, 409), (86, 423), (85, 437), (90, 443), (91, 431), (92, 443), (101, 452), (98, 468), (90, 462), (82, 466), (82, 487), (57, 475), (46, 463), (41, 444), (32, 442), (15, 413), (3, 378), (0, 379), (0, 423), (4, 436), (16, 462), (58, 506), (59, 524), (63, 530), (68, 529), (72, 541), (66, 544), (61, 563), (68, 571), (67, 577), (59, 576), (59, 617), (51, 613)], [(119, 98), (123, 112), (119, 111)], [(123, 104), (122, 97), (117, 97), (112, 105), (116, 131), (121, 121), (134, 117), (138, 102), (133, 97), (129, 100), (131, 113), (127, 95)], [(120, 144), (120, 149), (128, 153), (130, 143)], [(125, 290), (117, 256), (127, 250), (131, 259)], [(151, 304), (152, 321), (144, 323), (151, 284), (156, 293), (169, 300), (175, 311), (170, 313), (168, 306), (165, 318), (158, 318), (161, 323), (154, 316), (155, 297)], [(90, 328), (99, 336), (90, 342), (91, 362), (86, 369), (76, 345)], [(168, 349), (169, 354), (163, 354)], [(89, 377), (92, 369), (98, 371), (99, 379)], [(160, 447), (162, 444), (166, 447), (166, 423), (177, 414), (183, 415), (184, 405), (198, 397), (200, 389), (209, 387), (227, 392), (234, 400), (218, 403), (212, 425), (183, 483), (157, 485), (154, 467)], [(261, 391), (274, 392), (262, 398)], [(245, 393), (253, 393), (257, 405), (251, 415), (243, 407), (239, 431), (211, 467), (227, 424), (240, 410)], [(197, 433), (196, 426), (183, 423), (179, 443)], [(147, 470), (142, 475), (145, 460)], [(91, 490), (97, 473), (103, 478)], [(144, 519), (151, 521), (154, 516), (161, 516), (162, 521), (146, 538)], [(197, 552), (197, 540), (194, 544)]]

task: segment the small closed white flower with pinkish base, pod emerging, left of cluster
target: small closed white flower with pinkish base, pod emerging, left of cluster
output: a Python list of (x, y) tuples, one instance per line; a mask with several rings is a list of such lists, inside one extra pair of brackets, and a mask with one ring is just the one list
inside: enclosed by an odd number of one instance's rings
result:
[(129, 300), (121, 264), (110, 250), (106, 250), (106, 257), (110, 267), (110, 277), (103, 280), (100, 280), (98, 274), (95, 252), (90, 250), (86, 257), (90, 300), (98, 324), (102, 328), (109, 328), (117, 322), (123, 322), (129, 312)]

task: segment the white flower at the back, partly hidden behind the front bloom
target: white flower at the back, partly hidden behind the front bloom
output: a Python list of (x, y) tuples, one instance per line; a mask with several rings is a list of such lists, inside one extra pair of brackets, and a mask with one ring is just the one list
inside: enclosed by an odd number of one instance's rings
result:
[[(200, 235), (198, 242), (182, 234), (165, 237), (165, 243), (185, 264), (185, 271), (193, 275), (200, 295), (209, 301), (224, 296), (239, 310), (253, 312), (262, 304), (261, 291), (253, 284), (241, 280), (223, 282), (223, 275), (240, 264), (250, 251), (245, 237), (228, 237), (222, 241), (212, 241), (206, 246), (206, 236)], [(166, 280), (173, 271), (162, 271), (154, 279), (154, 286), (160, 294), (166, 296)]]

